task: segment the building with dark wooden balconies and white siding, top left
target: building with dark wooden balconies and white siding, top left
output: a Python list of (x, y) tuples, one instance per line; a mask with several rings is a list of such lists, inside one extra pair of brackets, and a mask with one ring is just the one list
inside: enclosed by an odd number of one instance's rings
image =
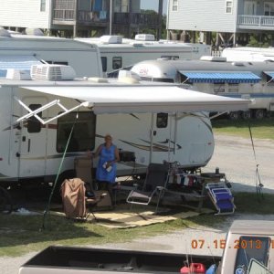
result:
[(16, 30), (63, 31), (66, 37), (161, 31), (163, 0), (155, 14), (142, 13), (140, 0), (0, 0), (0, 5), (0, 26)]

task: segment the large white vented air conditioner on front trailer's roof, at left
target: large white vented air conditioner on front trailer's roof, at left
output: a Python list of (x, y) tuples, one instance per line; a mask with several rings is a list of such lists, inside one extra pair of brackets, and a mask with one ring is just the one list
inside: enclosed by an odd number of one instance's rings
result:
[(31, 79), (70, 80), (75, 79), (76, 73), (70, 66), (41, 64), (31, 66), (30, 76)]

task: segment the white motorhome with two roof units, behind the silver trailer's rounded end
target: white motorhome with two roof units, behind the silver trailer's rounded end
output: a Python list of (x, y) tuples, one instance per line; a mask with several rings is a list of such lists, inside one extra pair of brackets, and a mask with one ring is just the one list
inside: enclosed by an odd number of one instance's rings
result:
[(168, 40), (154, 41), (153, 35), (147, 34), (136, 35), (135, 39), (120, 36), (76, 39), (99, 47), (102, 69), (106, 73), (130, 67), (143, 60), (198, 59), (204, 55), (211, 55), (211, 47), (205, 44)]

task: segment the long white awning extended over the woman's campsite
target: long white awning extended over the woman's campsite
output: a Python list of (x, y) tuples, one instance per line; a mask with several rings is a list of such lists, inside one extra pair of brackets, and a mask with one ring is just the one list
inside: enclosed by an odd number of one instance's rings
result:
[(87, 101), (95, 113), (247, 110), (250, 100), (232, 99), (175, 86), (23, 86), (58, 97)]

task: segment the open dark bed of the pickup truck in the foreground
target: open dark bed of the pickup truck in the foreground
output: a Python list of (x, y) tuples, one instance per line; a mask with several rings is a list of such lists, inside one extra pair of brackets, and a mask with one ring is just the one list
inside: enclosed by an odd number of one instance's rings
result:
[(24, 264), (19, 274), (32, 273), (179, 273), (186, 259), (206, 268), (220, 257), (190, 256), (148, 251), (51, 246)]

